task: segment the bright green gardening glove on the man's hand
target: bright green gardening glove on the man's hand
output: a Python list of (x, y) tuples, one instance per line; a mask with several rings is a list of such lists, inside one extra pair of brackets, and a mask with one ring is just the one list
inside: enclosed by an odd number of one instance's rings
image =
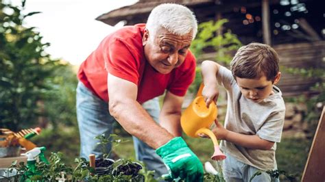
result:
[(157, 148), (156, 153), (163, 159), (169, 174), (163, 178), (176, 178), (185, 181), (203, 181), (203, 166), (199, 158), (191, 151), (181, 137), (176, 137)]

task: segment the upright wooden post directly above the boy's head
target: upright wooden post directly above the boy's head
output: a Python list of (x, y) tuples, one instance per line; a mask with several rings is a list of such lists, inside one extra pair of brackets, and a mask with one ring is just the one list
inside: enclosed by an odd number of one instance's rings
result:
[(263, 43), (271, 45), (271, 33), (269, 28), (269, 0), (262, 1)]

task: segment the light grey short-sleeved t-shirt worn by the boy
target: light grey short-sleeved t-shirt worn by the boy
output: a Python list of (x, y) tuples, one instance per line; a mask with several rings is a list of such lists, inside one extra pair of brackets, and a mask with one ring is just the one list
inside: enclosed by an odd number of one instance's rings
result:
[[(245, 135), (258, 135), (264, 140), (280, 142), (285, 121), (285, 102), (281, 91), (274, 86), (274, 94), (259, 103), (246, 99), (228, 68), (220, 66), (217, 80), (227, 90), (228, 103), (225, 128)], [(270, 150), (245, 148), (222, 140), (222, 151), (244, 164), (261, 170), (276, 168), (276, 143)]]

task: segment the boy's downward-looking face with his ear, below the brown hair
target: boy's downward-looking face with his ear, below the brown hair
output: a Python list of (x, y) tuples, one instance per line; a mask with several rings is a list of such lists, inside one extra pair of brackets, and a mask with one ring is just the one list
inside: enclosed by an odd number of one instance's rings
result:
[(272, 83), (270, 80), (267, 80), (265, 76), (258, 79), (244, 79), (236, 77), (236, 80), (241, 90), (241, 94), (243, 94), (243, 96), (245, 96), (247, 99), (251, 99), (256, 103), (259, 103), (263, 99), (267, 98), (267, 96), (274, 94), (272, 88), (273, 85), (278, 83), (280, 80), (280, 75), (280, 72), (278, 75), (276, 75), (274, 83)]

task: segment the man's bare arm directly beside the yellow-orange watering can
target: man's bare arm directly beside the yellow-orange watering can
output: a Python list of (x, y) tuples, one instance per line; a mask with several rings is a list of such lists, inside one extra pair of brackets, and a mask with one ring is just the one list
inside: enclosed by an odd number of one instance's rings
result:
[(160, 126), (164, 127), (174, 136), (181, 136), (180, 116), (182, 112), (182, 103), (184, 96), (176, 96), (167, 92), (163, 107), (161, 108), (159, 120)]

